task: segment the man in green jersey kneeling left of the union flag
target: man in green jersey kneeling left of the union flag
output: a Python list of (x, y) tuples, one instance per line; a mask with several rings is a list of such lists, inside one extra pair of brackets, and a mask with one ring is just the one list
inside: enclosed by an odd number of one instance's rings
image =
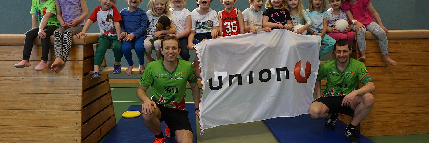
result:
[[(154, 133), (154, 143), (164, 143), (165, 138), (160, 122), (170, 129), (167, 136), (175, 137), (178, 143), (192, 143), (192, 128), (185, 110), (186, 82), (192, 89), (195, 101), (195, 114), (199, 116), (199, 87), (193, 65), (189, 61), (177, 58), (180, 53), (179, 41), (175, 37), (165, 37), (161, 43), (164, 58), (150, 62), (137, 88), (137, 97), (143, 101), (142, 118), (146, 127)], [(154, 95), (149, 98), (146, 90), (152, 85)]]

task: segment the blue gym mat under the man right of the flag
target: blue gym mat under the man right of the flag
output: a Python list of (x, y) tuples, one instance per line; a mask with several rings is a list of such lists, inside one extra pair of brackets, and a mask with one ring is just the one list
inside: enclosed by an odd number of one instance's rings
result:
[[(335, 130), (325, 130), (325, 119), (312, 119), (310, 114), (296, 117), (278, 117), (264, 120), (279, 143), (349, 143), (345, 136), (345, 125), (335, 122)], [(359, 132), (359, 143), (373, 143)]]

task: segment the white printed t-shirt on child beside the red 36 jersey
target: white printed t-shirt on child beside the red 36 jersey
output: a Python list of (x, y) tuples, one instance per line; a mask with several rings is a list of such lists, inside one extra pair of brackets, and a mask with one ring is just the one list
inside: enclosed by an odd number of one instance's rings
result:
[(199, 15), (196, 9), (193, 9), (190, 15), (192, 15), (191, 30), (195, 30), (195, 33), (211, 32), (214, 26), (219, 26), (218, 13), (213, 9), (208, 8), (205, 15)]

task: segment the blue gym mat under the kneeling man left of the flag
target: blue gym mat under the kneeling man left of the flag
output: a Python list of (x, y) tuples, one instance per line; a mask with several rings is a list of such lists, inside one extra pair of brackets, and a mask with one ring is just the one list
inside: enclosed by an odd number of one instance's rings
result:
[[(189, 111), (195, 109), (194, 104), (186, 104), (185, 108)], [(127, 111), (141, 111), (141, 105), (132, 105)], [(190, 125), (192, 126), (193, 142), (196, 143), (196, 115), (195, 112), (188, 114)], [(161, 122), (161, 129), (164, 132), (165, 122)], [(166, 143), (176, 143), (174, 137), (167, 137)], [(152, 143), (155, 140), (155, 135), (146, 128), (143, 123), (142, 116), (136, 118), (121, 117), (115, 127), (107, 134), (103, 143)]]

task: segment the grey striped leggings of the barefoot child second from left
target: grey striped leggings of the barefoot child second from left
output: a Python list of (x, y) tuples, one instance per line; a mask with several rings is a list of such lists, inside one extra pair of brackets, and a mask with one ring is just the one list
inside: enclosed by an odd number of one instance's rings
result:
[(76, 25), (75, 27), (67, 27), (66, 29), (59, 27), (54, 31), (55, 58), (62, 58), (64, 62), (67, 62), (70, 49), (72, 49), (73, 35), (81, 32), (83, 26)]

